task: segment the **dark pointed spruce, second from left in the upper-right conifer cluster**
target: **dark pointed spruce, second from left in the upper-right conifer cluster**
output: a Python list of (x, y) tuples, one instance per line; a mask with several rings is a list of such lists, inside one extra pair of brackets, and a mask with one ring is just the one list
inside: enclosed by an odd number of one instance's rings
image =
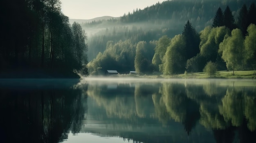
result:
[(231, 10), (229, 9), (229, 6), (226, 7), (225, 11), (224, 11), (224, 26), (226, 26), (227, 28), (229, 28), (231, 31), (235, 28), (234, 27), (234, 16), (232, 15)]

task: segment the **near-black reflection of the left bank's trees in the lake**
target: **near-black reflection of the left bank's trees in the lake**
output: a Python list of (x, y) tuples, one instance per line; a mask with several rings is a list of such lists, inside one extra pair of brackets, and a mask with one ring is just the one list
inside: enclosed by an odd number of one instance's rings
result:
[[(61, 87), (54, 86), (60, 83), (59, 80), (43, 79), (11, 79), (7, 82), (9, 85), (2, 84), (1, 142), (57, 143), (67, 139), (70, 131), (79, 133), (87, 110), (83, 103), (87, 96), (80, 89), (72, 88), (73, 80), (63, 81), (65, 86)], [(17, 83), (22, 84), (22, 88), (16, 88)]]

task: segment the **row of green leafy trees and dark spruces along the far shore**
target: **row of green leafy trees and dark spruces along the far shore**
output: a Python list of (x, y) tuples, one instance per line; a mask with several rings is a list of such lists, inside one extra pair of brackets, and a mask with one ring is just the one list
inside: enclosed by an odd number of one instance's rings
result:
[[(173, 38), (165, 35), (157, 41), (141, 40), (135, 44), (131, 40), (124, 41), (128, 42), (126, 45), (129, 46), (115, 46), (123, 43), (122, 41), (116, 44), (108, 43), (103, 54), (99, 53), (96, 59), (89, 62), (88, 68), (91, 74), (99, 74), (107, 69), (120, 70), (121, 73), (132, 70), (134, 63), (134, 69), (140, 74), (173, 75), (184, 71), (200, 72), (207, 62), (211, 61), (218, 70), (255, 69), (256, 22), (252, 14), (255, 10), (254, 3), (250, 5), (249, 10), (243, 5), (237, 16), (238, 21), (235, 21), (228, 6), (224, 12), (219, 8), (212, 26), (205, 27), (200, 33), (188, 20), (182, 34)], [(243, 33), (242, 29), (247, 31)], [(112, 47), (111, 51), (109, 47)], [(122, 54), (126, 50), (130, 51), (130, 56)], [(126, 59), (128, 62), (120, 59)]]

